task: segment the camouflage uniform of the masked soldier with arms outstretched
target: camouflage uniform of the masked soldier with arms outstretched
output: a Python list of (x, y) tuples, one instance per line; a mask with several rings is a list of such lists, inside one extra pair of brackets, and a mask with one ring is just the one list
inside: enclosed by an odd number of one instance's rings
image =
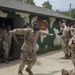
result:
[[(36, 31), (36, 33), (31, 28), (21, 28), (14, 29), (11, 32), (15, 34), (20, 34), (25, 36), (24, 43), (21, 47), (21, 63), (19, 66), (19, 72), (23, 71), (24, 66), (26, 65), (27, 59), (29, 57), (30, 61), (28, 62), (28, 67), (26, 71), (31, 70), (33, 65), (36, 62), (36, 42), (39, 35), (50, 35), (49, 33), (43, 33), (41, 31)], [(29, 69), (29, 70), (28, 70)], [(29, 71), (29, 75), (33, 75), (31, 71)]]

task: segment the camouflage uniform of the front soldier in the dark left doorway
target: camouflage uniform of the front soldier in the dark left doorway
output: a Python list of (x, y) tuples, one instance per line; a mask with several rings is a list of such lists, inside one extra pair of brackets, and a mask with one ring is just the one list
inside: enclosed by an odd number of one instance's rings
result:
[(9, 51), (11, 47), (11, 39), (12, 39), (12, 34), (7, 31), (7, 29), (4, 29), (3, 31), (3, 49), (4, 49), (4, 58), (5, 62), (8, 62), (8, 57), (9, 57)]

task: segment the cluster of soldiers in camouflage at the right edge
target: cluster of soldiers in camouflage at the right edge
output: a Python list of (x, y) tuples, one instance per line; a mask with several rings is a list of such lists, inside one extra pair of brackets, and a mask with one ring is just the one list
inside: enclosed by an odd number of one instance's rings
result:
[(75, 24), (70, 23), (68, 26), (65, 23), (61, 24), (61, 38), (62, 38), (62, 50), (65, 57), (63, 59), (71, 58), (74, 69), (67, 71), (62, 69), (62, 75), (75, 75)]

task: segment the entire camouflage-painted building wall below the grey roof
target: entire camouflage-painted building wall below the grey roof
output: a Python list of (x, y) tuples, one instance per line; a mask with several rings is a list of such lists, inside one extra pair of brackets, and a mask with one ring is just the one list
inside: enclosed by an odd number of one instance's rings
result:
[[(5, 18), (11, 18), (12, 19), (12, 27), (13, 28), (21, 28), (23, 27), (23, 24), (25, 22), (26, 18), (29, 23), (30, 23), (30, 27), (32, 26), (32, 23), (34, 21), (46, 21), (47, 22), (47, 29), (43, 30), (44, 32), (47, 33), (53, 33), (54, 36), (41, 36), (38, 38), (37, 41), (37, 47), (38, 48), (46, 48), (49, 46), (58, 46), (61, 44), (61, 38), (60, 36), (58, 36), (58, 32), (60, 31), (60, 27), (61, 27), (61, 22), (62, 19), (58, 19), (55, 17), (46, 17), (46, 16), (36, 16), (36, 15), (29, 15), (29, 14), (24, 14), (24, 13), (19, 13), (16, 14), (15, 12), (10, 12), (10, 11), (2, 11), (0, 12), (0, 16), (5, 17)], [(22, 15), (20, 15), (22, 14)], [(26, 15), (26, 16), (25, 16)], [(21, 17), (23, 16), (23, 17)], [(42, 30), (41, 30), (42, 31)], [(21, 53), (21, 46), (23, 44), (23, 36), (19, 36), (16, 35), (17, 39), (19, 41), (19, 45), (13, 40), (13, 44), (12, 44), (12, 52), (13, 52), (13, 56), (15, 58), (19, 58), (20, 57), (20, 53)], [(37, 48), (37, 49), (38, 49)]]

